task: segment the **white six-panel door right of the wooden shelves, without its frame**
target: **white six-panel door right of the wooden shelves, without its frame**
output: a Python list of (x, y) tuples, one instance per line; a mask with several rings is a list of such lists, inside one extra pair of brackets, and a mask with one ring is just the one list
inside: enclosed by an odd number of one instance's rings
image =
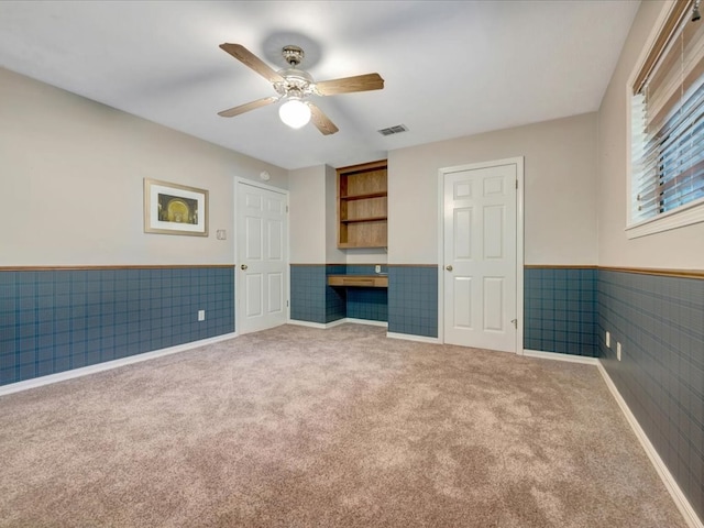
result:
[(517, 352), (517, 165), (443, 175), (444, 342)]

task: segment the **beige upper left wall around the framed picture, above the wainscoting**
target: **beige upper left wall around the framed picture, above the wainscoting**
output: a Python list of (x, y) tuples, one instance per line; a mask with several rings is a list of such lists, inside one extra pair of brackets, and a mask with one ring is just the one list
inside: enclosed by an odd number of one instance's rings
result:
[[(234, 176), (288, 184), (280, 167), (2, 68), (0, 123), (0, 266), (231, 264)], [(207, 189), (210, 235), (144, 233), (143, 178)]]

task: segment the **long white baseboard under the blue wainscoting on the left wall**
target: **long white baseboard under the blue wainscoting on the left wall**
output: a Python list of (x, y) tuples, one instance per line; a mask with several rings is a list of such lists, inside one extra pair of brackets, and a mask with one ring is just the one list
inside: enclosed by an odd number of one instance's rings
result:
[(28, 391), (30, 388), (36, 388), (44, 385), (51, 385), (53, 383), (65, 382), (67, 380), (74, 380), (76, 377), (87, 376), (97, 372), (110, 371), (112, 369), (119, 369), (120, 366), (131, 365), (133, 363), (140, 363), (142, 361), (154, 360), (164, 355), (176, 354), (178, 352), (185, 352), (186, 350), (196, 349), (198, 346), (205, 346), (207, 344), (218, 343), (220, 341), (227, 341), (229, 339), (237, 338), (238, 333), (223, 333), (222, 336), (216, 336), (215, 338), (201, 339), (199, 341), (191, 341), (189, 343), (177, 344), (167, 349), (153, 350), (151, 352), (144, 352), (142, 354), (130, 355), (128, 358), (121, 358), (119, 360), (106, 361), (103, 363), (97, 363), (95, 365), (81, 366), (80, 369), (73, 369), (70, 371), (59, 372), (56, 374), (48, 374), (46, 376), (35, 377), (25, 382), (12, 383), (10, 385), (3, 385), (0, 387), (0, 396), (7, 394), (19, 393), (21, 391)]

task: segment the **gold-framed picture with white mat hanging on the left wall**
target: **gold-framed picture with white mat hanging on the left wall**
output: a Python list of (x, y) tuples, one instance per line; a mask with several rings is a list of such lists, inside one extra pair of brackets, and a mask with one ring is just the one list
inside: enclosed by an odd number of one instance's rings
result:
[(144, 232), (208, 237), (208, 191), (144, 178)]

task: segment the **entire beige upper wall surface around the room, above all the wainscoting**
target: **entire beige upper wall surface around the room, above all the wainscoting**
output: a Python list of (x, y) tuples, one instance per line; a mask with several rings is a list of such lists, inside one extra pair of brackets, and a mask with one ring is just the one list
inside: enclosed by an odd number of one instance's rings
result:
[[(626, 82), (662, 4), (642, 3), (598, 120), (584, 114), (389, 152), (388, 262), (437, 263), (439, 168), (525, 156), (526, 264), (704, 268), (704, 224), (635, 240), (624, 232)], [(271, 185), (289, 187), (280, 167), (2, 68), (0, 101), (0, 266), (232, 263), (233, 177), (258, 180), (266, 169)], [(383, 251), (337, 250), (334, 169), (300, 174), (300, 185), (298, 172), (290, 182), (292, 262), (385, 262)], [(145, 177), (208, 189), (211, 235), (145, 234)], [(217, 229), (228, 240), (216, 240)]]

